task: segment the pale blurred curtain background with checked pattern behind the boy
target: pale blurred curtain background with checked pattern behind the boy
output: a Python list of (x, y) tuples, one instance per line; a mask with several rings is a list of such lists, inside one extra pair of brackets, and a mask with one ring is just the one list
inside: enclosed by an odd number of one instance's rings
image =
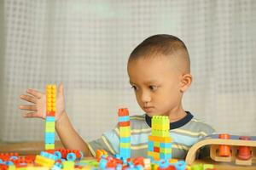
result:
[(253, 0), (1, 0), (0, 140), (44, 140), (44, 121), (23, 118), (18, 105), (27, 88), (49, 83), (64, 83), (68, 116), (87, 141), (113, 128), (121, 107), (143, 114), (126, 63), (160, 33), (189, 49), (183, 107), (218, 133), (255, 135), (255, 9)]

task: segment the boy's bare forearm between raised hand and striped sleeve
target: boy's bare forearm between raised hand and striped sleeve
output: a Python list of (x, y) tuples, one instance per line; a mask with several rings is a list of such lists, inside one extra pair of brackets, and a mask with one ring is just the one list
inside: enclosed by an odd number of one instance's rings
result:
[(55, 122), (55, 128), (65, 148), (82, 150), (84, 156), (92, 156), (84, 139), (82, 139), (79, 133), (73, 128), (66, 111), (64, 111), (59, 120)]

